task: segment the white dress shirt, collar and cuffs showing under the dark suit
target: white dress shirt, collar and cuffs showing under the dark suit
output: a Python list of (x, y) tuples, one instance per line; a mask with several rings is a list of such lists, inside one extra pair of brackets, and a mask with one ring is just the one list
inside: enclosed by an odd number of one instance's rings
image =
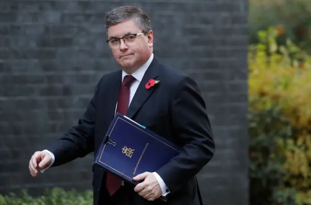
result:
[[(135, 95), (135, 92), (138, 88), (138, 85), (140, 84), (141, 80), (142, 80), (142, 77), (144, 76), (147, 68), (150, 66), (152, 60), (154, 58), (154, 54), (152, 53), (149, 60), (144, 64), (142, 65), (140, 68), (138, 68), (134, 73), (132, 73), (132, 76), (135, 78), (135, 81), (133, 82), (133, 84), (130, 86), (130, 100), (129, 100), (129, 104), (131, 104), (132, 102), (132, 99)], [(124, 70), (122, 71), (122, 81), (124, 79), (124, 76), (125, 75), (128, 75)], [(118, 102), (117, 102), (118, 104)], [(116, 104), (116, 109), (117, 109), (117, 104)], [(52, 163), (51, 165), (54, 163), (54, 160), (55, 160), (55, 157), (54, 157), (54, 154), (52, 154), (50, 151), (48, 150), (44, 150), (45, 152), (48, 152), (51, 156), (52, 156)], [(50, 165), (50, 166), (51, 166)], [(49, 166), (49, 167), (50, 167)], [(45, 170), (47, 170), (49, 167), (47, 167), (46, 169), (44, 170), (41, 170), (41, 172), (43, 173)], [(162, 196), (166, 196), (167, 194), (169, 194), (169, 190), (166, 186), (166, 184), (164, 183), (163, 179), (156, 173), (156, 172), (153, 172), (153, 174), (155, 175), (156, 177), (156, 180), (158, 181), (159, 185), (160, 185), (160, 188), (162, 190)], [(122, 181), (122, 185), (123, 185), (123, 181)]]

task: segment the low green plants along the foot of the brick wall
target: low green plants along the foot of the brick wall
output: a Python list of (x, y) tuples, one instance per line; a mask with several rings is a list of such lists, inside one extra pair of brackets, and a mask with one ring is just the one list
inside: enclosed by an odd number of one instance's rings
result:
[(21, 194), (0, 195), (0, 205), (92, 205), (93, 192), (79, 193), (75, 190), (65, 191), (61, 188), (46, 190), (41, 197), (34, 198), (26, 190)]

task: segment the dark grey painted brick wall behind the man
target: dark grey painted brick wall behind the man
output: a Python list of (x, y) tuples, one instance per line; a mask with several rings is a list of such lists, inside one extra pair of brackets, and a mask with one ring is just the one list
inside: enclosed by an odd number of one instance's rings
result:
[(91, 188), (92, 156), (31, 177), (28, 161), (84, 112), (119, 69), (104, 13), (137, 5), (152, 18), (155, 55), (189, 73), (207, 102), (216, 146), (199, 174), (205, 204), (246, 205), (246, 0), (4, 0), (0, 3), (0, 193)]

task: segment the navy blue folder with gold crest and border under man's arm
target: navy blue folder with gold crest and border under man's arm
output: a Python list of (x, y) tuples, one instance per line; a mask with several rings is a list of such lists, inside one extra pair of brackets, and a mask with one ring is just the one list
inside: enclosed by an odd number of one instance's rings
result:
[(117, 113), (93, 164), (137, 185), (139, 182), (132, 180), (134, 176), (158, 170), (177, 154), (179, 148), (175, 144)]

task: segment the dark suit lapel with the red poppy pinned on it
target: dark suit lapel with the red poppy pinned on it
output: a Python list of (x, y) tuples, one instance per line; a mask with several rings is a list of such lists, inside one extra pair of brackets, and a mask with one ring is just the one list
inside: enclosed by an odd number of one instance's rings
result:
[(158, 61), (154, 58), (151, 62), (149, 68), (146, 70), (138, 88), (135, 92), (134, 98), (127, 110), (126, 116), (133, 118), (137, 113), (139, 108), (143, 105), (144, 102), (149, 98), (149, 96), (154, 92), (154, 87), (146, 89), (145, 85), (148, 83), (149, 79), (155, 79), (159, 74), (159, 64)]

